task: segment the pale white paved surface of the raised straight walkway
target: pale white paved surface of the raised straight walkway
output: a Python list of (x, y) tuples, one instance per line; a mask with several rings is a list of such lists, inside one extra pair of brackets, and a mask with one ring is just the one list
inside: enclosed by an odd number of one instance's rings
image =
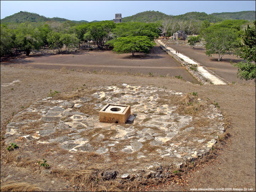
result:
[[(159, 44), (161, 44), (162, 46), (165, 46), (165, 44), (161, 40), (156, 40), (156, 41)], [(170, 47), (167, 47), (166, 49), (169, 50), (171, 53), (176, 54), (176, 50), (174, 50)], [(190, 63), (192, 65), (197, 65), (197, 70), (198, 70), (199, 74), (201, 74), (205, 78), (209, 79), (209, 81), (212, 82), (214, 85), (226, 85), (226, 83), (224, 81), (222, 81), (217, 75), (213, 75), (213, 74), (209, 73), (208, 69), (205, 66), (200, 66), (199, 63), (195, 62), (194, 60), (190, 59), (189, 57), (187, 57), (186, 55), (184, 55), (182, 53), (178, 53), (176, 55), (177, 55), (177, 57), (183, 59), (187, 63)]]

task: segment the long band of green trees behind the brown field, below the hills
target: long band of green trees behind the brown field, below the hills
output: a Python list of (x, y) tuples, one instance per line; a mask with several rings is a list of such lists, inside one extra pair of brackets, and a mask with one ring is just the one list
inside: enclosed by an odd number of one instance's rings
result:
[(124, 22), (100, 21), (75, 23), (72, 21), (10, 22), (1, 24), (1, 56), (10, 55), (14, 50), (25, 51), (50, 47), (60, 49), (65, 46), (79, 48), (81, 44), (91, 42), (98, 48), (106, 42), (113, 43), (119, 37), (146, 36), (151, 41), (159, 36), (169, 37), (178, 30), (187, 35), (200, 34), (208, 27), (226, 27), (236, 31), (244, 30), (246, 20), (225, 20), (210, 23), (208, 20), (166, 19), (161, 22)]

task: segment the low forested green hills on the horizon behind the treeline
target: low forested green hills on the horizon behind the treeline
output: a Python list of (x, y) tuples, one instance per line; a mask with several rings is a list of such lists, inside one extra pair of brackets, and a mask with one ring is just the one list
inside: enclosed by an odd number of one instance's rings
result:
[[(114, 18), (114, 16), (113, 16)], [(164, 20), (176, 19), (176, 20), (195, 20), (195, 21), (209, 21), (210, 23), (216, 23), (223, 20), (255, 20), (255, 11), (240, 11), (240, 12), (223, 12), (223, 13), (213, 13), (206, 14), (205, 12), (188, 12), (183, 15), (166, 15), (159, 11), (144, 11), (138, 14), (123, 17), (122, 22), (161, 22)], [(57, 21), (57, 22), (65, 22), (70, 21), (65, 18), (53, 17), (48, 18), (42, 15), (38, 15), (36, 13), (30, 13), (26, 11), (20, 11), (14, 15), (5, 17), (1, 19), (1, 23), (24, 23), (24, 22), (46, 22), (46, 21)], [(74, 23), (88, 23), (89, 21), (81, 20), (81, 21), (71, 21)], [(99, 21), (92, 21), (99, 22)]]

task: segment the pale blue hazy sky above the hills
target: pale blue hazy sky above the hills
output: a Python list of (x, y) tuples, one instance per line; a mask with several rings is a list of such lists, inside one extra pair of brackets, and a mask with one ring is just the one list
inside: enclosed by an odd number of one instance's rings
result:
[(160, 11), (167, 15), (181, 15), (197, 11), (214, 12), (255, 11), (255, 1), (1, 1), (1, 19), (20, 11), (68, 20), (112, 20), (143, 11)]

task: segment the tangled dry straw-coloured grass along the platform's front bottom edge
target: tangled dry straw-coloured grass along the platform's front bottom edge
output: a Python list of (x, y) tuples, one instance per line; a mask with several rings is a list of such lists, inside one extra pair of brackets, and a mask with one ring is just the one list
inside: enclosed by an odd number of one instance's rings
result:
[[(156, 185), (165, 180), (158, 178), (149, 178), (143, 173), (136, 178), (131, 175), (130, 180), (116, 178), (115, 180), (106, 180), (104, 178), (105, 170), (103, 167), (87, 167), (86, 170), (67, 170), (52, 169), (53, 177), (63, 177), (66, 181), (76, 183), (82, 191), (135, 191), (145, 185)], [(113, 170), (113, 169), (111, 169)]]

